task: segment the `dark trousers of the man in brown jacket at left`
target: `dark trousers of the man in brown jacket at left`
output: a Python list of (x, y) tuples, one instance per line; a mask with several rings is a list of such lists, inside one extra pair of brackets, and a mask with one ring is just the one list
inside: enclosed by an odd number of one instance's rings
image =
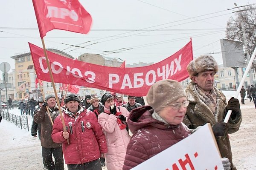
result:
[[(55, 162), (52, 161), (52, 155)], [(42, 156), (44, 166), (47, 167), (47, 170), (64, 170), (62, 147), (42, 147)]]

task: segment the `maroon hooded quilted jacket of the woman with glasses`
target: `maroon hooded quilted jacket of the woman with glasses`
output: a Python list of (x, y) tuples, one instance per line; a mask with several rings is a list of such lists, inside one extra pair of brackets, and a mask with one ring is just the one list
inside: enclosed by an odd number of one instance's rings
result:
[(183, 123), (167, 126), (152, 118), (153, 111), (152, 107), (143, 106), (130, 112), (128, 127), (133, 136), (127, 147), (123, 170), (136, 167), (190, 134)]

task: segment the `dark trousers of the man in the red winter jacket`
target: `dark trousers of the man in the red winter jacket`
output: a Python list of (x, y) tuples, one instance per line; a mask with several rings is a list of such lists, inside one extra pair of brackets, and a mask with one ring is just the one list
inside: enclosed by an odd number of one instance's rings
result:
[(84, 164), (67, 164), (68, 170), (102, 170), (99, 159)]

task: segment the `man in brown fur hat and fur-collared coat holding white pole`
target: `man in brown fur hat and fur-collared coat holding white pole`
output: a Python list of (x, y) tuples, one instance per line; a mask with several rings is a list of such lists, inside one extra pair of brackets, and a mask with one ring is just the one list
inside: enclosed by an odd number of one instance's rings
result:
[[(212, 56), (202, 55), (191, 61), (187, 71), (192, 81), (186, 88), (189, 106), (183, 123), (190, 129), (210, 123), (221, 157), (229, 158), (231, 169), (236, 170), (228, 133), (239, 130), (242, 121), (239, 100), (232, 97), (227, 103), (225, 95), (213, 86), (218, 64)], [(232, 110), (232, 114), (228, 123), (223, 123), (228, 110)]]

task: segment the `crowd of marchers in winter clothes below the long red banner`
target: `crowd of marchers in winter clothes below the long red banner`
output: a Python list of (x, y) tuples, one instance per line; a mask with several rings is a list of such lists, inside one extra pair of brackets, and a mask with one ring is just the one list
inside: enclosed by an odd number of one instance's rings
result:
[[(40, 136), (44, 169), (64, 170), (65, 159), (68, 170), (130, 170), (209, 123), (224, 170), (236, 170), (228, 134), (239, 130), (239, 101), (226, 102), (213, 86), (218, 64), (212, 56), (191, 61), (187, 71), (191, 82), (186, 89), (175, 80), (157, 81), (146, 106), (143, 97), (128, 95), (126, 103), (114, 92), (102, 98), (70, 93), (62, 110), (54, 95), (45, 102), (39, 98), (31, 133)], [(228, 110), (232, 113), (224, 123)]]

